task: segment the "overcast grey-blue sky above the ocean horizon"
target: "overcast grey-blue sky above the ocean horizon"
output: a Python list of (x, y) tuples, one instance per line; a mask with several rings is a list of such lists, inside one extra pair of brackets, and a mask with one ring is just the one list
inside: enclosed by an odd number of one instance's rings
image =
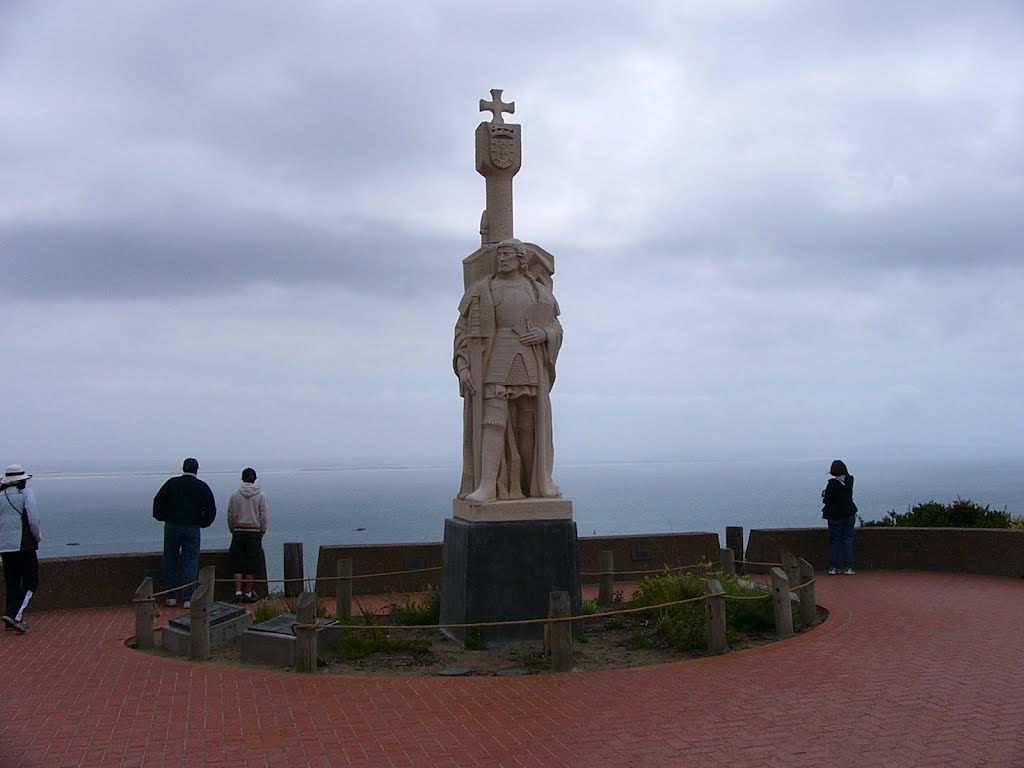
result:
[(1024, 5), (0, 3), (12, 461), (455, 461), (478, 101), (556, 461), (1024, 450)]

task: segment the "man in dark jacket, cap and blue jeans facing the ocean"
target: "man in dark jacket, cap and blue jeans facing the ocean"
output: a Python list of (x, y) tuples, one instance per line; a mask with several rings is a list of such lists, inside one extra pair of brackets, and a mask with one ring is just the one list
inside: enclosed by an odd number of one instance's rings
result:
[(200, 528), (210, 527), (217, 516), (213, 492), (196, 476), (198, 472), (199, 462), (185, 459), (181, 474), (165, 482), (153, 500), (153, 516), (164, 523), (164, 588), (175, 590), (167, 593), (171, 607), (178, 604), (179, 591), (184, 607), (191, 606), (193, 582), (199, 579)]

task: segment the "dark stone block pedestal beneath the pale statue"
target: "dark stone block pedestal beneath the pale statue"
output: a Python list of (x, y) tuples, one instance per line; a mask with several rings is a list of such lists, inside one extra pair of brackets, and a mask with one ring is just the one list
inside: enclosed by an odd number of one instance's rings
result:
[[(580, 550), (572, 520), (444, 521), (441, 624), (543, 618), (552, 592), (579, 615)], [(472, 632), (472, 630), (470, 630)], [(445, 630), (465, 644), (467, 630)], [(542, 640), (544, 625), (487, 627), (484, 643)]]

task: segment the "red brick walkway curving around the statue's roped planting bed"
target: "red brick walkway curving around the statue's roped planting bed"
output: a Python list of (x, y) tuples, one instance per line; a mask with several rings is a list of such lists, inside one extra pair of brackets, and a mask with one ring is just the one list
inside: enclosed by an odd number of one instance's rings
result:
[(740, 653), (519, 678), (228, 669), (124, 647), (129, 608), (0, 637), (0, 768), (1024, 766), (1024, 581), (819, 580), (828, 622)]

